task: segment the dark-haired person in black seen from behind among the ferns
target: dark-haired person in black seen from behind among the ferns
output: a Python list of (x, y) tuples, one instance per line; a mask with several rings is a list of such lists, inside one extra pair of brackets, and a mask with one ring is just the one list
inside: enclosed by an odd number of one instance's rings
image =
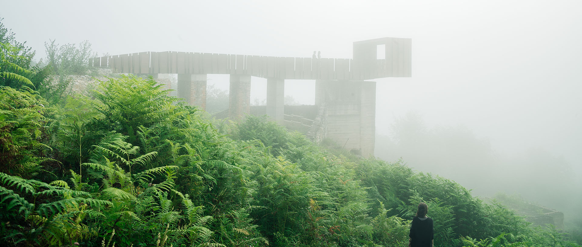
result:
[(427, 203), (418, 204), (416, 216), (410, 224), (410, 234), (408, 239), (410, 247), (432, 247), (434, 245), (434, 231), (432, 229), (432, 219), (427, 217)]

